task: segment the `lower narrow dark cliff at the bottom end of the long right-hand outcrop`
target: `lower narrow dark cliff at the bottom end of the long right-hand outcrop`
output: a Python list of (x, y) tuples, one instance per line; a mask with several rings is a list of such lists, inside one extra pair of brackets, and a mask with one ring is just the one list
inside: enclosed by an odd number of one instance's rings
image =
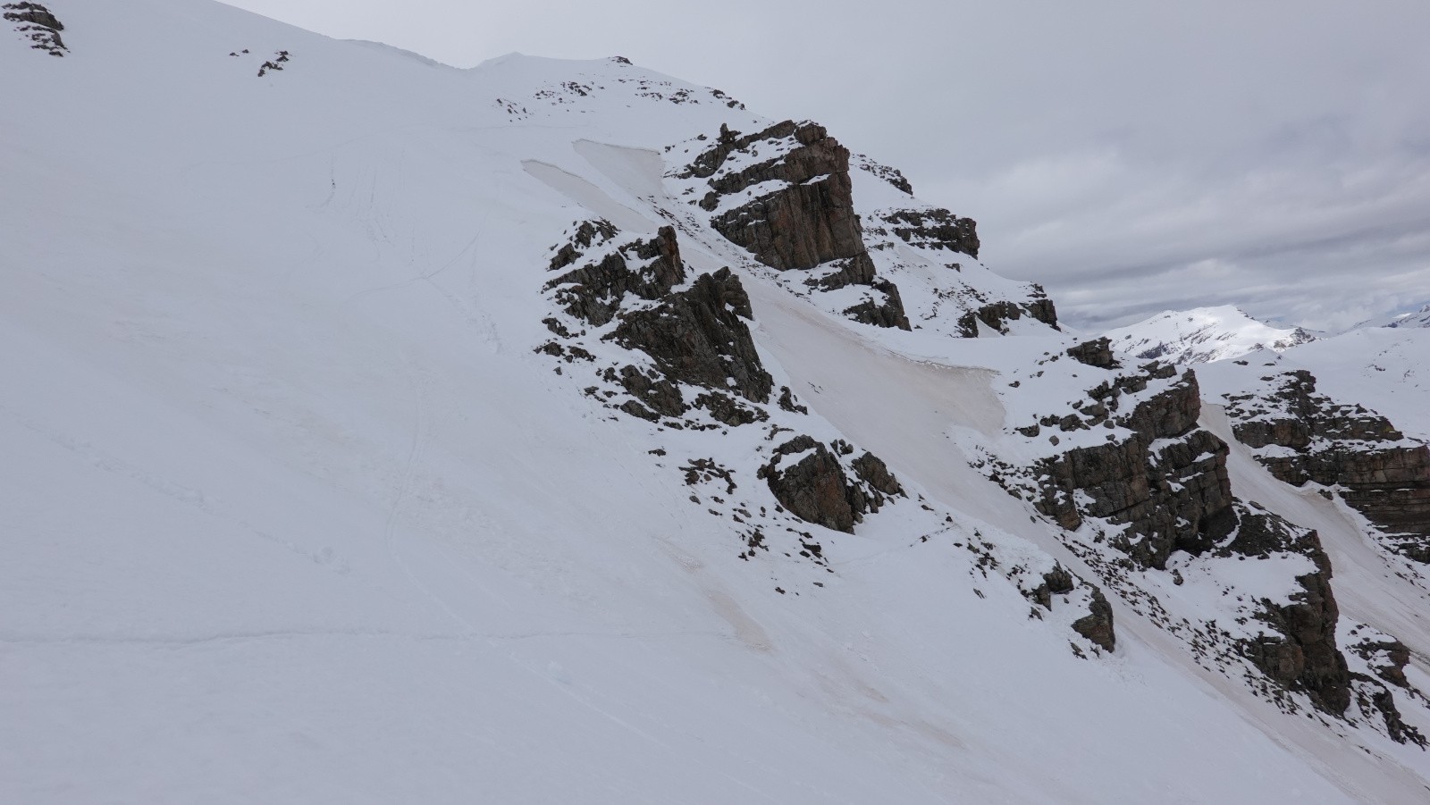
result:
[(1257, 618), (1274, 635), (1243, 643), (1243, 652), (1263, 673), (1293, 691), (1306, 691), (1320, 709), (1340, 715), (1350, 705), (1350, 671), (1336, 646), (1340, 611), (1331, 593), (1331, 563), (1314, 530), (1293, 526), (1260, 508), (1237, 506), (1237, 530), (1218, 555), (1266, 558), (1298, 553), (1316, 566), (1296, 578), (1300, 591), (1290, 602), (1263, 599)]

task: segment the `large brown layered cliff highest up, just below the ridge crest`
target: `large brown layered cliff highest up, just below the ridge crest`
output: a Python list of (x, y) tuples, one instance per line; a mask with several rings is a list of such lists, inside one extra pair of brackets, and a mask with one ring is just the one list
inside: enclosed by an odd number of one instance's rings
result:
[(711, 226), (779, 270), (824, 269), (811, 283), (881, 290), (881, 302), (845, 310), (869, 325), (909, 329), (898, 289), (875, 279), (854, 212), (849, 150), (824, 126), (785, 120), (764, 132), (721, 129), (679, 179), (704, 179)]

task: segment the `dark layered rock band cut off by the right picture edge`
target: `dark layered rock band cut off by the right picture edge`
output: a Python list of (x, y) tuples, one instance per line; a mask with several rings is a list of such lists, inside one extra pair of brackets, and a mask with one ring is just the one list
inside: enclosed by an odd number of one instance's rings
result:
[(1401, 552), (1430, 562), (1430, 448), (1374, 412), (1317, 393), (1310, 372), (1261, 380), (1263, 390), (1227, 397), (1237, 440), (1287, 483), (1338, 486)]

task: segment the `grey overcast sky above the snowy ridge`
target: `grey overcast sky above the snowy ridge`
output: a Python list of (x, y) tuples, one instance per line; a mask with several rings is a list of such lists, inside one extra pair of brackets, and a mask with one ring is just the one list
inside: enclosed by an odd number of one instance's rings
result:
[(626, 56), (811, 117), (1114, 326), (1430, 302), (1430, 1), (233, 0), (448, 64)]

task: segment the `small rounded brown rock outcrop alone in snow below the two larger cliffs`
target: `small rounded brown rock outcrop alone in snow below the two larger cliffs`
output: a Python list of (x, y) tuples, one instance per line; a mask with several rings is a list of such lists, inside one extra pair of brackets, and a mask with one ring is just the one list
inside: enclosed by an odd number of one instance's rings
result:
[(872, 453), (849, 462), (855, 475), (851, 482), (839, 458), (852, 452), (844, 442), (827, 448), (811, 436), (795, 436), (775, 448), (758, 478), (765, 479), (775, 499), (797, 518), (854, 533), (854, 523), (879, 510), (885, 495), (902, 495), (904, 490)]

